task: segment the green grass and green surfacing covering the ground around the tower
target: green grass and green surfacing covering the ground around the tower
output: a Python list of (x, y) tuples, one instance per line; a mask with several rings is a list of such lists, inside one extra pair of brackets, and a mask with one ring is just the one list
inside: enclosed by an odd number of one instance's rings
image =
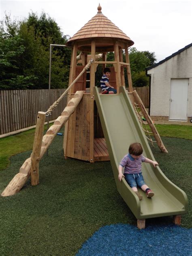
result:
[[(164, 129), (168, 131), (165, 125), (158, 126), (162, 128), (158, 128), (160, 135)], [(166, 133), (171, 137), (178, 129), (184, 129), (185, 139), (162, 137), (168, 154), (161, 153), (157, 146), (151, 149), (164, 174), (186, 192), (190, 207), (192, 140), (189, 140), (189, 127), (174, 125)], [(3, 150), (9, 156), (18, 153), (11, 157), (11, 164), (0, 171), (0, 193), (30, 157), (33, 141), (30, 137), (34, 134), (29, 133), (0, 140), (0, 152)], [(28, 180), (18, 194), (0, 197), (0, 255), (75, 255), (101, 226), (136, 225), (137, 220), (117, 192), (110, 162), (91, 164), (64, 159), (62, 140), (63, 136), (56, 136), (49, 147), (49, 156), (40, 162), (40, 185), (32, 187)], [(7, 164), (6, 156), (1, 162)], [(171, 217), (146, 220), (146, 226), (168, 223)], [(188, 214), (182, 216), (182, 226), (191, 227), (191, 207)]]

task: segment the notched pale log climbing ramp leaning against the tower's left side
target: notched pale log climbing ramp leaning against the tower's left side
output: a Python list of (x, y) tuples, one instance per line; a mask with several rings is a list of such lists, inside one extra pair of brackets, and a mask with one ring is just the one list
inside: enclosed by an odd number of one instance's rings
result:
[[(63, 127), (63, 125), (67, 122), (67, 120), (70, 118), (70, 116), (73, 114), (75, 109), (77, 108), (77, 105), (81, 101), (83, 94), (85, 91), (77, 91), (71, 99), (66, 108), (64, 108), (61, 116), (59, 116), (53, 125), (47, 130), (47, 133), (43, 136), (42, 144), (41, 144), (41, 152), (39, 160), (43, 157), (45, 152), (47, 151), (47, 148), (57, 135), (58, 131)], [(43, 113), (43, 112), (41, 112)], [(43, 125), (44, 127), (44, 125)], [(31, 156), (32, 157), (32, 156)], [(29, 157), (26, 159), (26, 161), (21, 166), (19, 173), (16, 174), (9, 185), (4, 189), (2, 192), (2, 196), (12, 196), (20, 191), (20, 189), (23, 187), (23, 185), (26, 183), (27, 179), (29, 178), (31, 174), (31, 167), (32, 167), (32, 159)]]

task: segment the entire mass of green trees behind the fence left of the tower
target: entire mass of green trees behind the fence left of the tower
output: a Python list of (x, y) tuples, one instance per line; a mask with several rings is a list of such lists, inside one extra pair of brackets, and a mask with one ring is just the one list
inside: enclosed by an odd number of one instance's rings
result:
[[(0, 88), (34, 89), (49, 86), (49, 45), (65, 44), (56, 22), (34, 13), (21, 22), (6, 15), (0, 23)], [(51, 88), (68, 85), (71, 50), (53, 47)]]

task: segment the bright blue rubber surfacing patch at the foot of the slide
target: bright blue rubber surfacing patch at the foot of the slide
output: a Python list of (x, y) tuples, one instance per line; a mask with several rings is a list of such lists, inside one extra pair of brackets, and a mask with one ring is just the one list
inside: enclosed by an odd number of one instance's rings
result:
[(76, 256), (192, 256), (191, 242), (192, 228), (173, 224), (139, 230), (128, 224), (115, 224), (96, 231)]

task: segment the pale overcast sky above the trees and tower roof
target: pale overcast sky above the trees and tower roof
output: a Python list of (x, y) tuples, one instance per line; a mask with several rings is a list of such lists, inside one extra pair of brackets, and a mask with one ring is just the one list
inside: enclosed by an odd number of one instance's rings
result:
[(121, 29), (139, 51), (155, 52), (163, 60), (192, 43), (192, 0), (0, 0), (0, 19), (21, 20), (42, 11), (72, 37), (97, 13)]

